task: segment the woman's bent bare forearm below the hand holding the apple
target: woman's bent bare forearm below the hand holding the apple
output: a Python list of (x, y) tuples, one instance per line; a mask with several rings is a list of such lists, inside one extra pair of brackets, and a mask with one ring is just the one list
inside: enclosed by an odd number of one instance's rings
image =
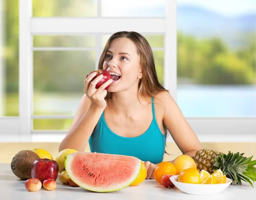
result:
[(61, 141), (59, 152), (68, 148), (83, 152), (103, 110), (104, 108), (91, 107), (90, 99), (84, 94), (70, 129)]

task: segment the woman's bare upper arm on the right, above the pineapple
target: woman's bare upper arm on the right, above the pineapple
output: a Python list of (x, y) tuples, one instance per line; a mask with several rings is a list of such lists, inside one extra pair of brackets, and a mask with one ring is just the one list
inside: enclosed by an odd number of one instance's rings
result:
[(183, 116), (180, 108), (169, 92), (160, 93), (158, 99), (163, 102), (165, 107), (163, 122), (180, 151), (184, 155), (192, 157), (196, 151), (203, 149), (203, 146), (195, 135), (195, 132), (189, 126), (186, 118)]

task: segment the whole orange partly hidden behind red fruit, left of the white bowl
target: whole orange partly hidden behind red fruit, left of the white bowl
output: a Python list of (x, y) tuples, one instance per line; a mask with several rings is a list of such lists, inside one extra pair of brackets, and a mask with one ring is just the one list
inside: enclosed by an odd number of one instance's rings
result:
[(177, 175), (175, 166), (170, 162), (162, 162), (157, 164), (157, 167), (154, 169), (154, 179), (161, 184), (161, 178), (163, 175)]

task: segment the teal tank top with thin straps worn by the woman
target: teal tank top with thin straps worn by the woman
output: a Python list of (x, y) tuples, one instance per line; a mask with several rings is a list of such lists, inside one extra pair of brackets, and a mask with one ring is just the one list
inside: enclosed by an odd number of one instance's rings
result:
[(163, 135), (158, 127), (155, 118), (154, 98), (152, 98), (152, 112), (153, 119), (148, 130), (137, 137), (126, 138), (110, 130), (105, 121), (103, 111), (89, 139), (90, 151), (130, 155), (154, 164), (162, 162), (166, 146), (166, 134)]

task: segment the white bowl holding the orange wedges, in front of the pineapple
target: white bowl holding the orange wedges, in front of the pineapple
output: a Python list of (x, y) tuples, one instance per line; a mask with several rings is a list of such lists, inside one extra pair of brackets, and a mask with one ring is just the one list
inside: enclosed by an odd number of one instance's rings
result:
[(226, 189), (232, 180), (230, 178), (226, 178), (226, 183), (220, 184), (192, 184), (192, 183), (180, 183), (178, 182), (178, 176), (170, 177), (172, 183), (179, 189), (181, 192), (185, 192), (187, 194), (197, 194), (197, 195), (210, 195), (217, 194)]

